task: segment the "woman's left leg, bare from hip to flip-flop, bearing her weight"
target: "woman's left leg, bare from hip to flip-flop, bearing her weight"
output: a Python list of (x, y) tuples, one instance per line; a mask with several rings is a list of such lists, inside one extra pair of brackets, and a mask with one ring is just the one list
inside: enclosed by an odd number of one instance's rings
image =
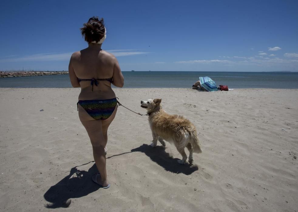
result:
[[(79, 118), (85, 127), (92, 144), (93, 157), (101, 177), (97, 182), (103, 186), (108, 185), (106, 170), (106, 155), (104, 152), (105, 139), (102, 131), (102, 121), (94, 120), (79, 104)], [(100, 178), (100, 179), (99, 179)]]

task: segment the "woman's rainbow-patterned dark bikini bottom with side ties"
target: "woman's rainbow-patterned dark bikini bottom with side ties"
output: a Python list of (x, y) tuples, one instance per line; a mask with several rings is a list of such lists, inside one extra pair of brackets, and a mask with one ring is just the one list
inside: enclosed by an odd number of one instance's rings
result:
[(92, 118), (96, 120), (105, 120), (109, 118), (115, 110), (117, 99), (79, 100), (77, 106), (78, 104), (80, 104)]

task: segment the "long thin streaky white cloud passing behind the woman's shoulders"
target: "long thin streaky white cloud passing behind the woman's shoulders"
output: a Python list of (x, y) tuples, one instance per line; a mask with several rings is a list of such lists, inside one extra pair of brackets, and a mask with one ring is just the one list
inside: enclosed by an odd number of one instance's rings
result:
[[(113, 55), (115, 55), (116, 57), (149, 53), (149, 52), (131, 51), (131, 49), (127, 49), (127, 50), (107, 50), (107, 51), (112, 52)], [(15, 57), (15, 58), (4, 58), (4, 59), (0, 59), (0, 62), (66, 61), (66, 60), (70, 59), (72, 54), (73, 54), (73, 52), (67, 52), (67, 53), (42, 53), (42, 54), (28, 55), (28, 56)]]

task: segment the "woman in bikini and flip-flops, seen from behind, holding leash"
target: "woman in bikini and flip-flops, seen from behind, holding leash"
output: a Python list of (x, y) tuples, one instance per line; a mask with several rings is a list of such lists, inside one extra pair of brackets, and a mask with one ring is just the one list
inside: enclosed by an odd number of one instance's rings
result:
[(117, 100), (111, 84), (123, 87), (124, 78), (114, 55), (103, 51), (106, 38), (103, 18), (92, 17), (81, 28), (88, 47), (73, 53), (69, 61), (69, 78), (74, 88), (81, 88), (79, 118), (90, 137), (93, 157), (100, 174), (92, 181), (109, 188), (106, 170), (107, 130), (117, 112)]

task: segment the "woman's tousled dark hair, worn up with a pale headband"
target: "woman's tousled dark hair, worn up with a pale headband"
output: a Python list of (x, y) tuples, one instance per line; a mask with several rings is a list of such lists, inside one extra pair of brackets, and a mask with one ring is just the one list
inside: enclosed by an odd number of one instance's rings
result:
[(89, 18), (87, 23), (83, 24), (83, 27), (80, 28), (82, 36), (85, 36), (85, 41), (91, 43), (92, 41), (100, 41), (103, 38), (105, 33), (103, 18), (98, 19), (97, 16)]

